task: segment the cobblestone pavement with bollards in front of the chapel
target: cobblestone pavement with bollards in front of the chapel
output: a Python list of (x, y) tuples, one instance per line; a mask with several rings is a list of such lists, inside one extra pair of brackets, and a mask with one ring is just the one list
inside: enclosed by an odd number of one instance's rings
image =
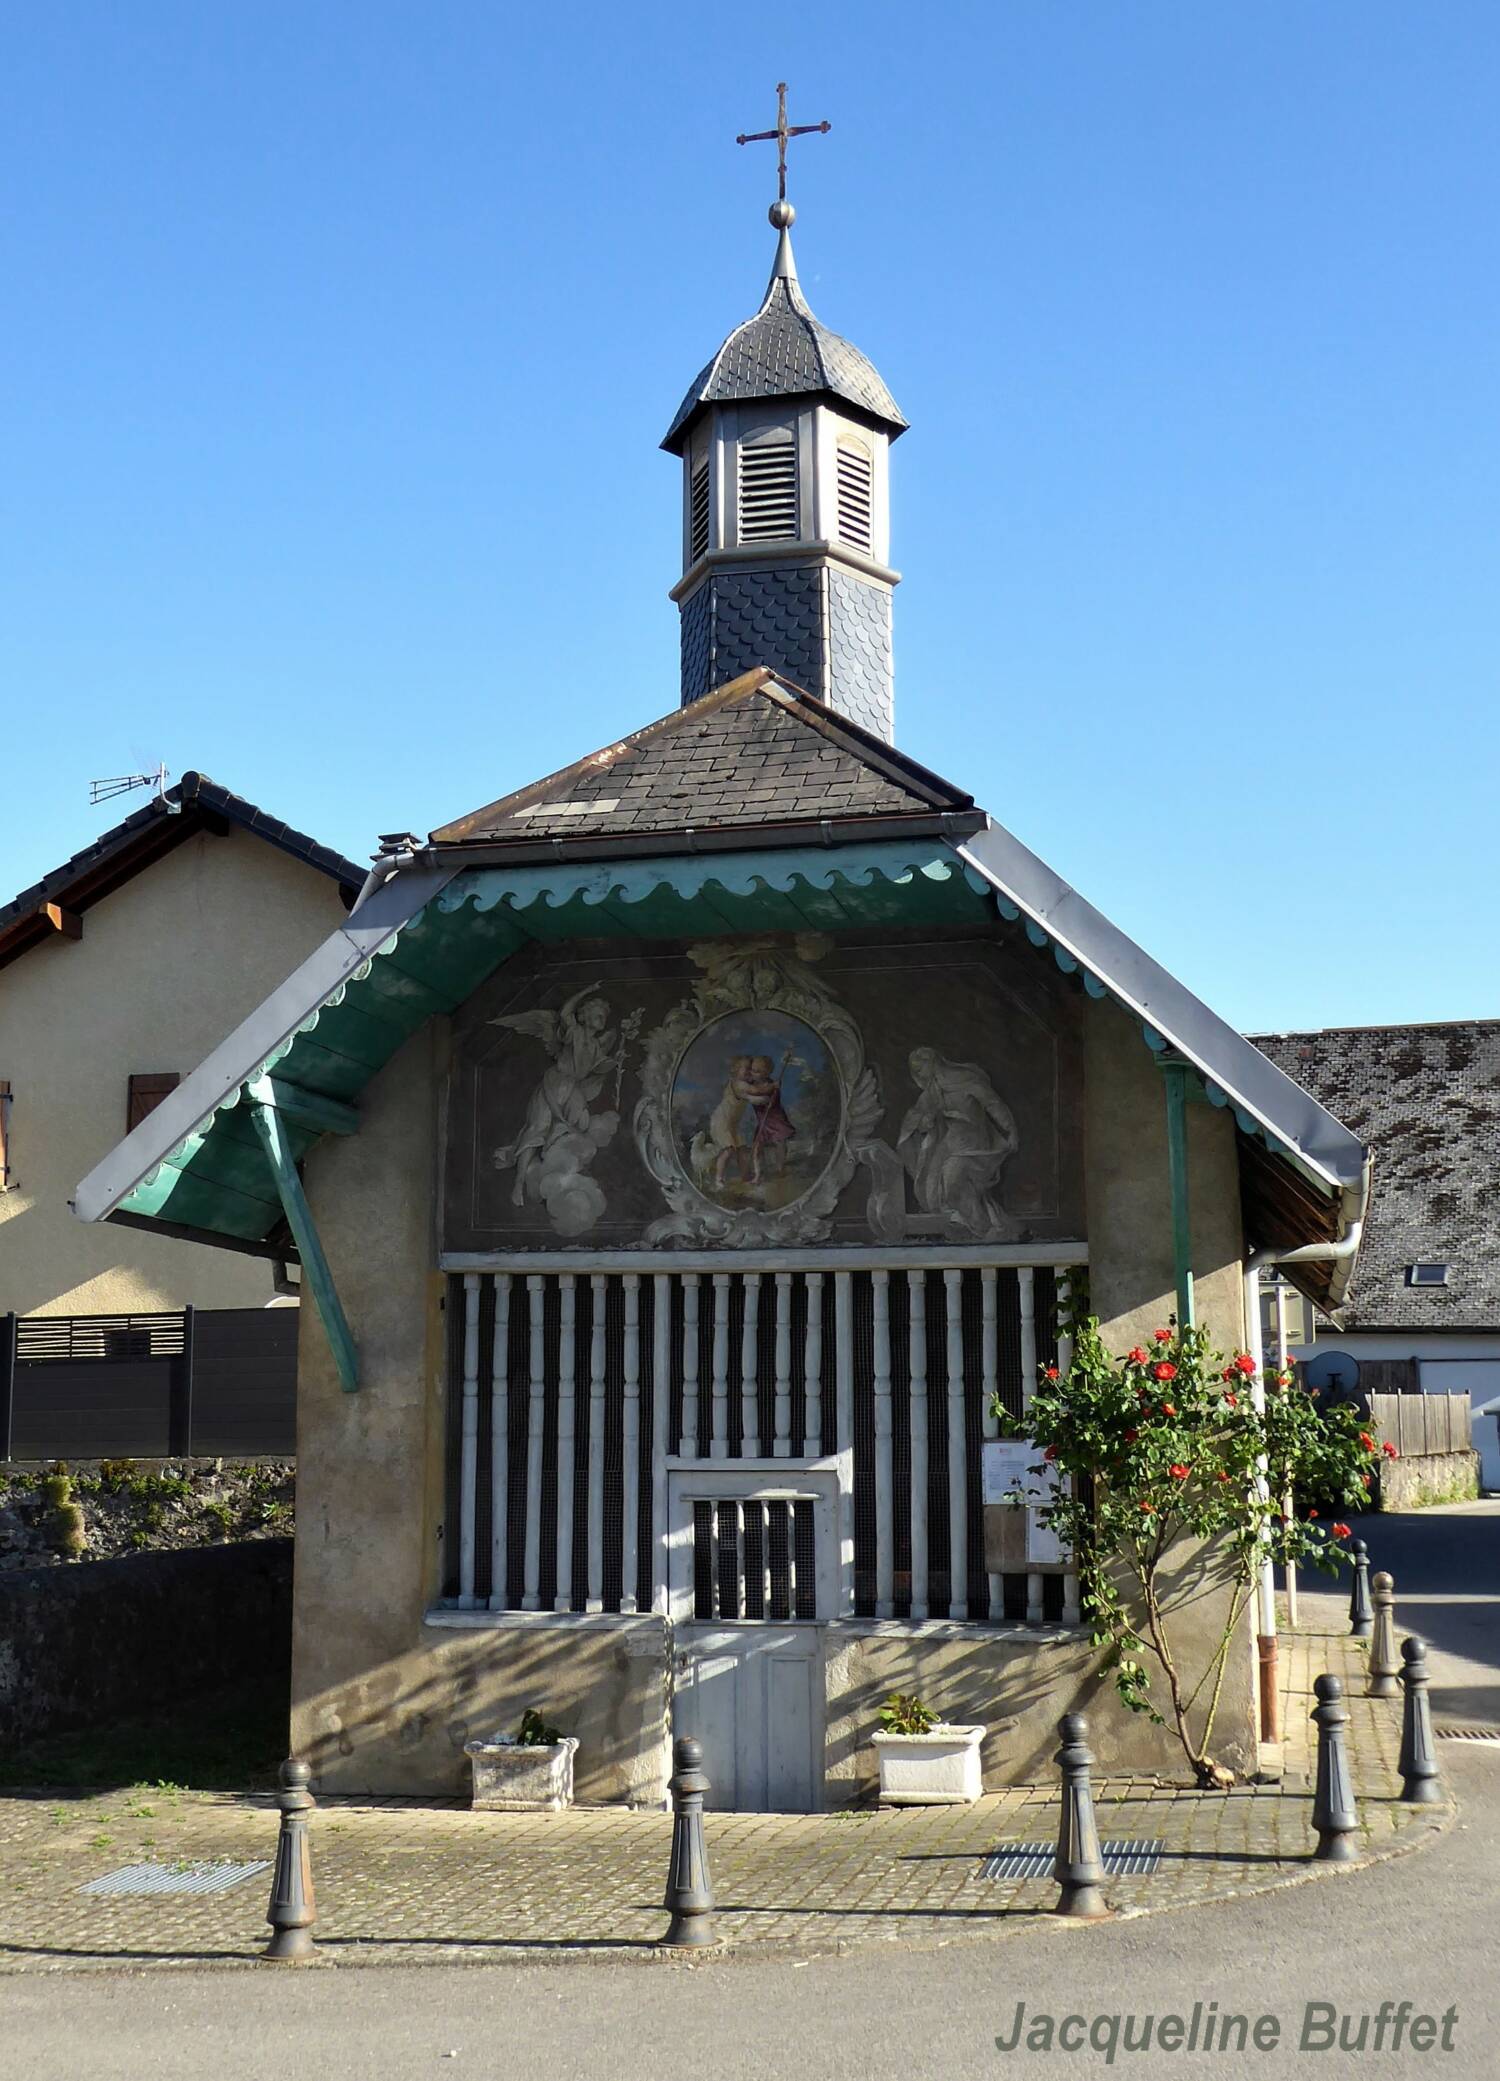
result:
[[(1315, 1617), (1329, 1619), (1331, 1604)], [(1284, 1636), (1286, 1777), (1225, 1794), (1150, 1781), (1096, 1785), (1105, 1838), (1163, 1838), (1155, 1875), (1119, 1877), (1119, 1912), (1194, 1906), (1325, 1875), (1309, 1862), (1313, 1677), (1350, 1694), (1363, 1856), (1429, 1840), (1444, 1808), (1396, 1802), (1400, 1706), (1363, 1698), (1363, 1648), (1344, 1632)], [(1051, 1879), (984, 1879), (999, 1844), (1051, 1844), (1053, 1785), (963, 1808), (853, 1815), (709, 1815), (718, 1929), (732, 1946), (947, 1944), (1034, 1925)], [(133, 1788), (0, 1800), (0, 1971), (221, 1964), (266, 1939), (268, 1873), (225, 1892), (81, 1892), (123, 1865), (256, 1860), (275, 1852), (264, 1798)], [(670, 1819), (616, 1808), (474, 1815), (406, 1800), (327, 1800), (314, 1817), (322, 1962), (483, 1960), (578, 1950), (653, 1954)], [(1342, 1867), (1348, 1869), (1348, 1867)]]

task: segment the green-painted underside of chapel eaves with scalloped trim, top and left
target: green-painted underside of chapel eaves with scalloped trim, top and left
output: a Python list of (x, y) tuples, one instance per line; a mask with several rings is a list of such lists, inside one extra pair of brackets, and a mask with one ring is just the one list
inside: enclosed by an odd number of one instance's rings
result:
[[(277, 1078), (354, 1101), (437, 1013), (458, 1009), (526, 945), (568, 939), (714, 939), (859, 926), (988, 922), (994, 899), (942, 843), (676, 855), (628, 864), (476, 868), (458, 874), (239, 1088), (150, 1172), (121, 1207), (206, 1236), (264, 1242), (281, 1197), (241, 1105)], [(289, 1128), (298, 1161), (318, 1136)]]

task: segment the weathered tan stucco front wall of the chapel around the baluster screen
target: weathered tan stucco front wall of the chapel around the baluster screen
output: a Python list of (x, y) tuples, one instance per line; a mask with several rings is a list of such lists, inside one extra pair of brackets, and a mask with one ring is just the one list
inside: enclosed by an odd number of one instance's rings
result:
[[(362, 1128), (308, 1163), (308, 1194), (362, 1351), (362, 1388), (341, 1394), (312, 1309), (302, 1319), (300, 1513), (293, 1625), (293, 1746), (337, 1792), (460, 1792), (464, 1740), (514, 1727), (528, 1704), (578, 1733), (583, 1800), (662, 1798), (670, 1656), (660, 1619), (431, 1625), (443, 1519), (445, 1328), (435, 1178), (445, 1026), (429, 1028), (372, 1080)], [(1086, 1176), (1094, 1305), (1123, 1348), (1171, 1313), (1165, 1099), (1140, 1032), (1109, 1005), (1086, 1028)], [(1240, 1344), (1240, 1211), (1234, 1126), (1190, 1109), (1200, 1315)], [(420, 1502), (418, 1502), (420, 1498)], [(1211, 1646), (1225, 1590), (1188, 1557), (1186, 1659)], [(1171, 1740), (1126, 1715), (1082, 1632), (878, 1625), (826, 1632), (830, 1802), (874, 1775), (870, 1736), (893, 1688), (982, 1719), (990, 1783), (1051, 1775), (1057, 1717), (1094, 1721), (1101, 1765), (1182, 1773)], [(1215, 1754), (1255, 1767), (1248, 1619), (1236, 1642)]]

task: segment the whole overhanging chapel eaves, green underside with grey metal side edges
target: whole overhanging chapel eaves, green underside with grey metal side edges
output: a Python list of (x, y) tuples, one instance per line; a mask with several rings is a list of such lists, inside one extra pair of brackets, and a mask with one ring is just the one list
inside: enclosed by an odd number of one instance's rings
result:
[[(905, 820), (903, 820), (905, 822)], [(503, 961), (570, 939), (712, 939), (732, 932), (1019, 922), (1038, 953), (1109, 997), (1146, 1047), (1186, 1061), (1200, 1095), (1234, 1113), (1246, 1226), (1259, 1249), (1336, 1244), (1363, 1215), (1361, 1142), (1207, 1009), (1034, 853), (982, 818), (926, 818), (899, 837), (799, 830), (797, 843), (718, 849), (682, 832), (649, 855), (612, 841), (607, 857), (566, 845), (424, 849), (366, 891), (318, 947), (156, 1111), (79, 1184), (85, 1222), (119, 1219), (177, 1236), (295, 1255), (285, 1170), (329, 1132), (329, 1107), (358, 1107), (364, 1084), (431, 1018), (458, 1009)], [(726, 832), (728, 839), (728, 832)], [(605, 841), (597, 841), (605, 843)], [(589, 847), (580, 847), (587, 853)], [(256, 1120), (256, 1088), (281, 1095), (283, 1174)], [(339, 1126), (358, 1130), (358, 1111)], [(295, 1226), (295, 1224), (293, 1224)], [(1336, 1305), (1352, 1259), (1317, 1274)]]

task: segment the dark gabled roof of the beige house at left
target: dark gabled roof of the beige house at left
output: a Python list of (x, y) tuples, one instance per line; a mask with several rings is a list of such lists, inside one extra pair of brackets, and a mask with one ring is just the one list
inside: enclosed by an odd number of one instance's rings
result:
[(146, 807), (135, 810), (92, 845), (64, 859), (62, 866), (44, 874), (40, 882), (0, 905), (0, 966), (25, 953), (35, 941), (50, 936), (50, 926), (29, 930), (44, 903), (85, 911), (89, 903), (98, 903), (131, 874), (139, 874), (144, 866), (158, 859), (173, 843), (214, 820), (235, 824), (239, 830), (275, 845), (277, 851), (304, 859), (310, 868), (337, 880), (350, 895), (356, 895), (364, 882), (364, 868), (354, 859), (345, 859), (329, 845), (318, 845), (306, 830), (293, 830), (281, 818), (266, 816), (254, 801), (218, 787), (208, 774), (185, 772), (177, 787), (166, 789), (166, 801), (181, 803), (177, 816), (166, 810), (160, 797), (152, 797)]

